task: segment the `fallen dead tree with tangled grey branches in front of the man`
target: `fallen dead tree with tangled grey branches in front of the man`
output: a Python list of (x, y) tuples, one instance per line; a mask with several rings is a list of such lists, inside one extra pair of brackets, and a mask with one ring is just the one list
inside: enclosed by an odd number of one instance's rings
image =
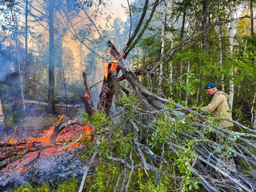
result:
[[(132, 111), (137, 114), (138, 118), (129, 120), (130, 116), (127, 114), (124, 117), (126, 121), (124, 121), (123, 128), (128, 130), (128, 132), (133, 132), (135, 134), (134, 140), (130, 140), (132, 148), (129, 154), (126, 155), (125, 159), (114, 156), (108, 157), (109, 160), (120, 162), (124, 165), (124, 172), (120, 172), (118, 178), (118, 181), (120, 178), (123, 178), (121, 191), (129, 191), (132, 172), (138, 167), (143, 167), (146, 173), (149, 170), (155, 172), (155, 185), (160, 183), (161, 175), (167, 174), (173, 176), (172, 172), (162, 171), (163, 164), (166, 166), (175, 165), (170, 165), (170, 162), (174, 161), (175, 158), (166, 159), (165, 153), (167, 150), (171, 151), (173, 156), (179, 156), (179, 154), (182, 153), (188, 153), (189, 156), (191, 150), (194, 152), (194, 154), (191, 153), (192, 161), (188, 162), (186, 166), (192, 170), (192, 174), (195, 177), (200, 178), (201, 186), (206, 191), (252, 192), (256, 190), (256, 141), (252, 139), (255, 137), (253, 133), (256, 131), (249, 129), (238, 122), (232, 121), (241, 128), (241, 133), (229, 132), (227, 129), (221, 129), (217, 125), (213, 126), (213, 118), (205, 119), (204, 115), (199, 114), (199, 116), (197, 116), (193, 110), (186, 109), (177, 103), (173, 103), (177, 108), (176, 110), (189, 114), (185, 116), (184, 119), (193, 117), (194, 122), (183, 122), (184, 126), (182, 127), (184, 130), (180, 131), (179, 136), (169, 135), (167, 137), (168, 139), (162, 143), (161, 152), (153, 152), (148, 145), (148, 138), (150, 134), (155, 133), (157, 129), (161, 130), (161, 127), (153, 126), (152, 121), (159, 118), (161, 114), (168, 114), (170, 116), (168, 120), (169, 122), (167, 122), (170, 123), (169, 133), (175, 133), (177, 131), (172, 127), (172, 119), (177, 118), (177, 111), (175, 112), (172, 109), (164, 108), (164, 103), (169, 103), (170, 101), (149, 92), (141, 84), (139, 79), (132, 72), (130, 66), (110, 41), (108, 41), (108, 46), (115, 56), (115, 59), (119, 62), (119, 67), (122, 70), (124, 79), (126, 79), (133, 90), (135, 90), (136, 95), (142, 104), (141, 108), (129, 104), (130, 107), (132, 107)], [(119, 110), (116, 116), (124, 116), (125, 108), (129, 105), (124, 105), (123, 109)], [(143, 116), (148, 116), (148, 118), (142, 118)], [(189, 127), (189, 134), (186, 132), (186, 127)], [(191, 132), (191, 130), (193, 131)], [(214, 132), (214, 134), (211, 133), (209, 136), (205, 132)], [(250, 137), (250, 139), (245, 139), (244, 136)], [(223, 142), (224, 140), (228, 141), (228, 144)], [(187, 143), (187, 146), (184, 145), (184, 143)], [(230, 146), (232, 146), (232, 149), (229, 148), (229, 150), (232, 151), (229, 154), (232, 154), (233, 157), (230, 159), (228, 157), (223, 159), (219, 151), (227, 151), (227, 148)], [(140, 159), (139, 163), (137, 162), (136, 164), (134, 162), (134, 156), (136, 156), (136, 159)], [(244, 165), (242, 166), (241, 163)], [(131, 170), (129, 175), (126, 171), (127, 169)], [(176, 168), (174, 167), (174, 169)], [(180, 178), (180, 176), (182, 176), (182, 174), (173, 177), (176, 180), (175, 188), (184, 190), (184, 181), (186, 178)], [(116, 184), (116, 188), (117, 186), (118, 183)]]

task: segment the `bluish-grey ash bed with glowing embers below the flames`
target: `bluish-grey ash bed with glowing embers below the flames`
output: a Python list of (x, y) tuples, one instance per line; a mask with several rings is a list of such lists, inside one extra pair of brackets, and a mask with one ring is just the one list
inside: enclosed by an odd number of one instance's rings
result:
[[(57, 181), (63, 182), (72, 176), (82, 180), (86, 161), (81, 160), (75, 150), (55, 154), (43, 151), (36, 159), (37, 155), (38, 152), (29, 153), (21, 162), (17, 160), (2, 169), (0, 192), (8, 192), (26, 182), (32, 185), (48, 182), (54, 186)], [(90, 170), (88, 174), (92, 174), (92, 171)]]

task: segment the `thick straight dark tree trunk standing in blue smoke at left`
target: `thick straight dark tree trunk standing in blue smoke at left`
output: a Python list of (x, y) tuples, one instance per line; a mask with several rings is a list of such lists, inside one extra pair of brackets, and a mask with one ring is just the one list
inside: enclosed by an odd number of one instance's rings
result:
[(48, 106), (47, 112), (54, 113), (54, 26), (53, 26), (54, 0), (48, 1), (48, 23), (49, 23), (49, 84), (48, 84)]

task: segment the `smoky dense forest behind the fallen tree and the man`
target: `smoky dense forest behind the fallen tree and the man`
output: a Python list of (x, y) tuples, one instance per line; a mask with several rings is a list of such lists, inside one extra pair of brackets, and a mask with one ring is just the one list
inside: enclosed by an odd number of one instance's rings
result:
[[(84, 71), (88, 87), (96, 84), (96, 108), (106, 63), (115, 60), (109, 40), (150, 92), (200, 107), (211, 99), (204, 85), (213, 82), (230, 95), (233, 120), (256, 129), (255, 0), (128, 0), (126, 20), (113, 17), (112, 3), (0, 0), (1, 129), (28, 116), (76, 116), (68, 108), (84, 94)], [(120, 84), (136, 95), (128, 81)]]

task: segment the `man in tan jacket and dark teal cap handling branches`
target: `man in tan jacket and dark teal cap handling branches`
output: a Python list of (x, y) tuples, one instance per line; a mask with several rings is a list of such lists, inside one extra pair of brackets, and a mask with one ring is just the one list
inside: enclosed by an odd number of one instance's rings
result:
[[(213, 117), (223, 117), (232, 120), (231, 112), (229, 112), (228, 107), (228, 97), (229, 95), (225, 92), (218, 91), (214, 83), (208, 83), (205, 85), (205, 91), (208, 95), (212, 96), (211, 102), (201, 108), (201, 111), (212, 112)], [(233, 123), (229, 121), (218, 122), (220, 127), (231, 127)]]

